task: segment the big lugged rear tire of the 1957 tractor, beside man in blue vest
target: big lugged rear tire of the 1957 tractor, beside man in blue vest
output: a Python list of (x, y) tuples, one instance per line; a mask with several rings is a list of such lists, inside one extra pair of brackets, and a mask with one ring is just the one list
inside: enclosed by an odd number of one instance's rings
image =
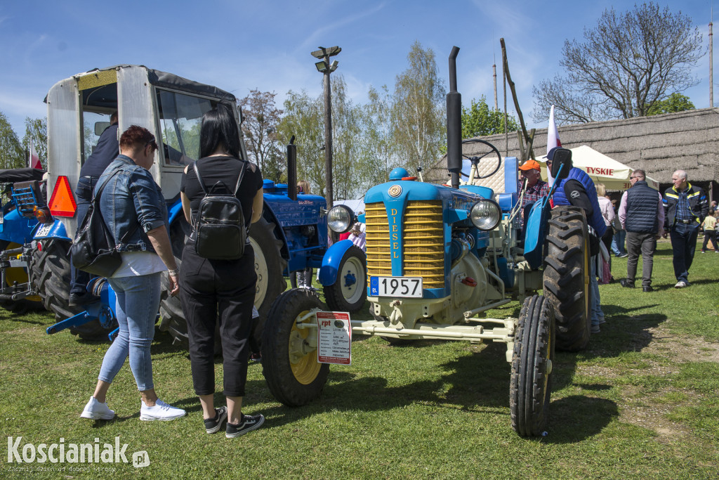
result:
[(578, 351), (589, 343), (590, 248), (585, 214), (576, 207), (551, 210), (544, 258), (544, 296), (554, 307), (557, 348)]

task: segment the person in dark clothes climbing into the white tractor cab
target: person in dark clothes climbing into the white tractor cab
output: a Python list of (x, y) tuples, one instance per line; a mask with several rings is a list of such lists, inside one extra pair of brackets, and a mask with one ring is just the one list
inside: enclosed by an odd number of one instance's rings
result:
[[(83, 222), (83, 218), (88, 212), (97, 179), (100, 178), (112, 160), (119, 155), (117, 127), (117, 112), (114, 112), (110, 115), (109, 127), (100, 134), (93, 153), (90, 154), (80, 168), (80, 178), (78, 178), (78, 185), (75, 187), (75, 197), (78, 204), (77, 217), (75, 218), (78, 219), (78, 225)], [(90, 273), (78, 270), (70, 262), (70, 298), (68, 299), (70, 307), (78, 307), (97, 300), (96, 296), (87, 292), (89, 281)]]

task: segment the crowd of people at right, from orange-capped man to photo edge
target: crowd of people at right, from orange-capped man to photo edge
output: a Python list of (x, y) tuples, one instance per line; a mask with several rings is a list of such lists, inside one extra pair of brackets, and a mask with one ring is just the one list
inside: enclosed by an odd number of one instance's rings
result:
[[(553, 148), (546, 155), (549, 170), (558, 150), (559, 148)], [(526, 222), (532, 204), (550, 191), (549, 184), (541, 180), (540, 168), (536, 160), (528, 160), (519, 167), (518, 188), (526, 192), (523, 196), (523, 222)], [(641, 255), (641, 287), (644, 292), (654, 291), (651, 286), (651, 273), (656, 240), (659, 238), (671, 239), (672, 263), (677, 281), (674, 288), (677, 289), (690, 286), (689, 269), (700, 230), (704, 232), (701, 252), (705, 253), (707, 244), (711, 243), (715, 253), (719, 253), (716, 202), (710, 204), (705, 192), (699, 186), (690, 184), (686, 171), (677, 170), (672, 174), (673, 185), (664, 191), (664, 194), (647, 184), (646, 173), (641, 169), (631, 173), (630, 181), (631, 187), (623, 192), (617, 202), (610, 200), (603, 184), (595, 185), (587, 173), (572, 167), (569, 176), (559, 181), (552, 195), (554, 205), (574, 205), (585, 210), (591, 237), (595, 239), (595, 242), (590, 243), (592, 333), (600, 332), (599, 325), (605, 322), (598, 278), (602, 278), (603, 283), (611, 280), (610, 252), (618, 258), (627, 257), (627, 274), (626, 278), (620, 279), (620, 285), (628, 289), (636, 286), (637, 266)], [(604, 274), (603, 258), (608, 266)]]

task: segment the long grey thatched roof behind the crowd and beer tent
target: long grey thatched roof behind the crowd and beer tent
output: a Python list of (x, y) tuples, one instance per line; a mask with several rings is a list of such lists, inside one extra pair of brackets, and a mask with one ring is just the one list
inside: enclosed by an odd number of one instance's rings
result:
[[(687, 171), (689, 181), (702, 186), (712, 199), (719, 197), (719, 108), (574, 124), (557, 130), (563, 147), (589, 145), (631, 168), (642, 168), (660, 182), (661, 191), (671, 186), (672, 173), (681, 168)], [(546, 133), (546, 128), (535, 132), (536, 158), (546, 154)], [(508, 146), (505, 135), (480, 138), (495, 145), (502, 155), (521, 158), (516, 132), (508, 135)], [(436, 163), (427, 177), (446, 180), (446, 158)]]

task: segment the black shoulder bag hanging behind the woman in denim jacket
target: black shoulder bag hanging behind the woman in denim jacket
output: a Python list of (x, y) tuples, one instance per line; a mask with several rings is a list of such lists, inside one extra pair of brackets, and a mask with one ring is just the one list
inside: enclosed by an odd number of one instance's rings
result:
[[(92, 273), (96, 276), (109, 277), (122, 265), (122, 255), (117, 251), (115, 239), (102, 217), (100, 197), (110, 179), (118, 171), (114, 171), (93, 195), (88, 212), (70, 245), (70, 258), (75, 268)], [(127, 232), (122, 240), (131, 235), (134, 229)]]

